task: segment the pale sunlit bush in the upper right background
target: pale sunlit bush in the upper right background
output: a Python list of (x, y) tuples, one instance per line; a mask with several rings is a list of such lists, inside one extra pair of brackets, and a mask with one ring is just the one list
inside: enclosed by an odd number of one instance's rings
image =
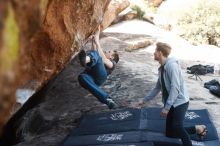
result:
[(220, 47), (220, 1), (200, 0), (178, 20), (182, 37), (193, 44), (205, 43)]

